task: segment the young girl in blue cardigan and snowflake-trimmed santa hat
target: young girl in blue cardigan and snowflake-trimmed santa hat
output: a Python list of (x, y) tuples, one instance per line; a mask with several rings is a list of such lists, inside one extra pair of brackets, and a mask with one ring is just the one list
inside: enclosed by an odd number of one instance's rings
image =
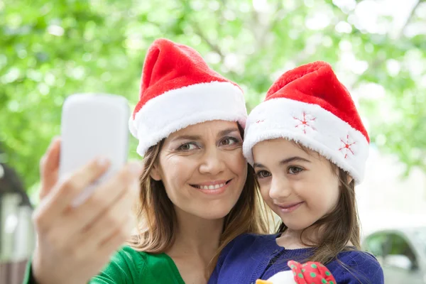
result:
[[(282, 223), (275, 235), (244, 234), (226, 246), (209, 283), (255, 283), (288, 261), (324, 263), (337, 283), (383, 283), (360, 251), (354, 187), (369, 138), (332, 67), (313, 62), (282, 75), (246, 124), (243, 151), (261, 195)], [(332, 283), (332, 282), (326, 282)]]

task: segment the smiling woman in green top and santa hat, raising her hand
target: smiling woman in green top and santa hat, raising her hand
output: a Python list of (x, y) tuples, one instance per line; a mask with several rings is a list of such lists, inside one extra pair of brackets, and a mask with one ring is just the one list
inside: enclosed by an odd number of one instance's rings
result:
[(141, 81), (129, 121), (144, 157), (141, 170), (127, 166), (70, 211), (76, 192), (107, 165), (91, 163), (57, 184), (59, 142), (48, 151), (35, 212), (37, 283), (85, 283), (99, 273), (124, 241), (138, 175), (138, 234), (91, 283), (206, 283), (231, 239), (266, 232), (253, 169), (241, 149), (241, 89), (192, 48), (165, 39), (148, 50)]

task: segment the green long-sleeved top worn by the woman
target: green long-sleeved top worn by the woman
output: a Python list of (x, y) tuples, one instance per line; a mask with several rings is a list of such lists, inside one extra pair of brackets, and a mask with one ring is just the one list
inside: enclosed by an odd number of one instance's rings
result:
[[(33, 283), (31, 262), (23, 284)], [(151, 254), (124, 246), (90, 284), (185, 284), (172, 258), (165, 253)]]

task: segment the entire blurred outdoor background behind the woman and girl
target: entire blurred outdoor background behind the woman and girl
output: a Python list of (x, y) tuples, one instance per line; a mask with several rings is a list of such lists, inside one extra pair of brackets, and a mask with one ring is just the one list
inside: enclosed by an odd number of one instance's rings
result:
[[(331, 63), (371, 135), (357, 188), (364, 246), (386, 283), (426, 283), (424, 0), (0, 0), (0, 283), (19, 283), (31, 255), (38, 163), (64, 99), (108, 92), (135, 104), (160, 37), (238, 82), (249, 110), (286, 70)], [(133, 138), (130, 149), (137, 158)]]

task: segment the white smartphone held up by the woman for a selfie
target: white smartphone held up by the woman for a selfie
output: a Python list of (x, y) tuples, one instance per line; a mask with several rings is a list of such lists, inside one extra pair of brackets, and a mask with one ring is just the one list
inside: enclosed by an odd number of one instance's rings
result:
[(72, 94), (62, 106), (59, 178), (97, 157), (109, 159), (107, 173), (85, 189), (72, 206), (82, 204), (121, 168), (129, 151), (129, 103), (114, 94)]

